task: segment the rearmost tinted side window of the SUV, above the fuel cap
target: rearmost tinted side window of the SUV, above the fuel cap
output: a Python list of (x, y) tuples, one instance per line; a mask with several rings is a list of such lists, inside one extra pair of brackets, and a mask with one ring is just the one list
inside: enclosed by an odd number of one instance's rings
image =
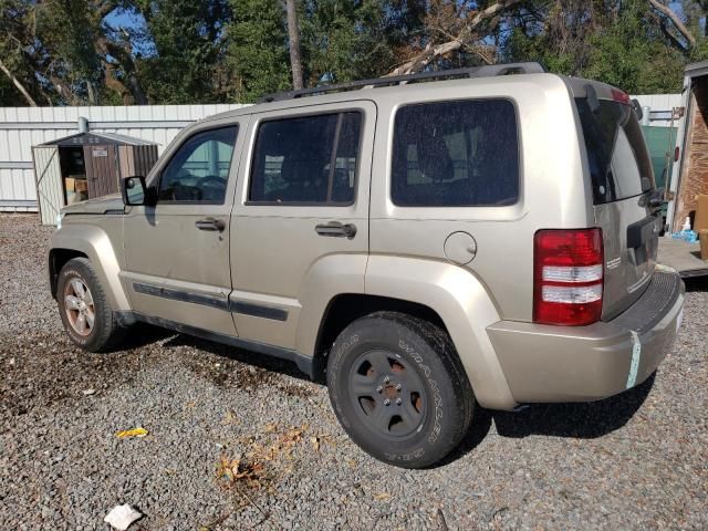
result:
[(426, 103), (396, 113), (395, 205), (504, 206), (518, 199), (519, 143), (511, 102)]

